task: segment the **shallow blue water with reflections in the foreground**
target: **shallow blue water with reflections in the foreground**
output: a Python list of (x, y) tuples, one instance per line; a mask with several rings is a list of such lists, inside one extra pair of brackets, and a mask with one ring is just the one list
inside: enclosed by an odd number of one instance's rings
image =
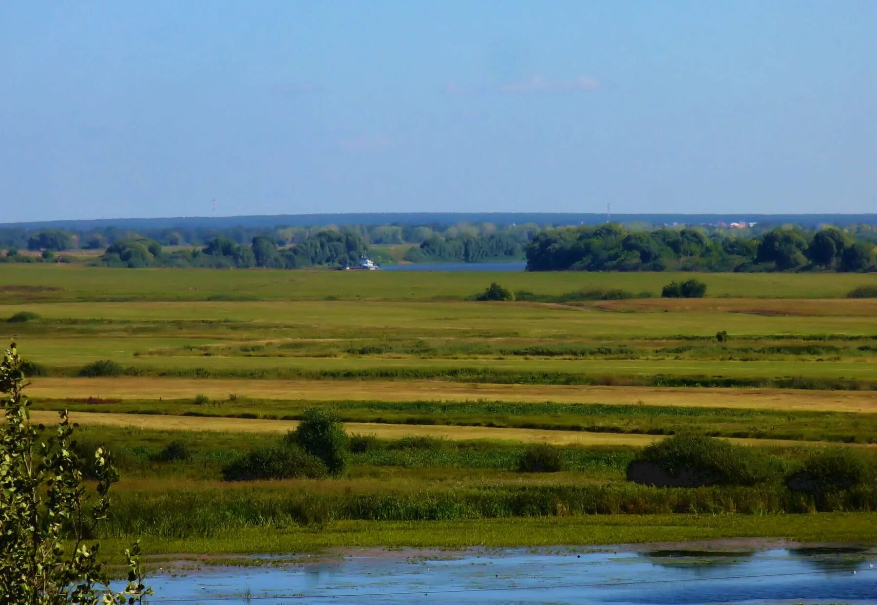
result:
[(157, 575), (150, 602), (877, 603), (877, 549), (370, 551)]

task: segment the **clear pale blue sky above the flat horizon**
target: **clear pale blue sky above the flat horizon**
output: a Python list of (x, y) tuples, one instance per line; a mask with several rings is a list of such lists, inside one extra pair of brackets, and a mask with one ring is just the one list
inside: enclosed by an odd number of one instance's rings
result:
[(0, 222), (875, 212), (877, 2), (0, 3)]

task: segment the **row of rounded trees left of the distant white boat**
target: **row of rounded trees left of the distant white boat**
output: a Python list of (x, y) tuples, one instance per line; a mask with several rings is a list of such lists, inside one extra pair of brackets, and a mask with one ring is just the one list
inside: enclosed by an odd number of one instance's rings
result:
[(249, 245), (230, 238), (213, 238), (203, 248), (166, 253), (159, 242), (132, 237), (117, 239), (100, 257), (108, 267), (268, 267), (296, 269), (313, 265), (346, 267), (355, 264), (367, 246), (358, 237), (338, 231), (319, 231), (301, 244), (280, 248), (267, 236), (256, 236)]

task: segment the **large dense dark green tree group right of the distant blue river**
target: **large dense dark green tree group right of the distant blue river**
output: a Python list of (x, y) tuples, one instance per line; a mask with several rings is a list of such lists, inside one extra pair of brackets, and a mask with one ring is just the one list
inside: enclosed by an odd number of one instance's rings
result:
[(759, 237), (699, 229), (628, 231), (618, 224), (538, 233), (526, 246), (530, 271), (865, 271), (874, 245), (834, 227), (776, 227)]

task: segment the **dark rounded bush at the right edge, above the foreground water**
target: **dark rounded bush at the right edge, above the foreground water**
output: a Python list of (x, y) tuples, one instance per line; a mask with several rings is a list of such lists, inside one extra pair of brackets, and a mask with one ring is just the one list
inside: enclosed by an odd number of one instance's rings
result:
[(857, 452), (849, 447), (831, 447), (811, 452), (802, 466), (791, 473), (789, 489), (819, 496), (857, 488), (871, 480), (872, 470)]

